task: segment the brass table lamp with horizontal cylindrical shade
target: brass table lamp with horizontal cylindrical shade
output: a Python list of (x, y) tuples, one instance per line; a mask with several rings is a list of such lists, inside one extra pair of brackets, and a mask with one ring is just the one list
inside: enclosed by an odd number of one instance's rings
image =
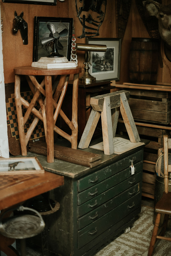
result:
[(107, 46), (103, 45), (103, 44), (76, 44), (76, 50), (78, 51), (85, 51), (86, 52), (86, 56), (85, 56), (85, 66), (84, 66), (84, 75), (82, 75), (79, 78), (80, 82), (86, 82), (86, 83), (90, 83), (93, 81), (96, 81), (96, 77), (91, 76), (89, 73), (89, 64), (90, 63), (90, 52), (106, 52), (107, 50)]

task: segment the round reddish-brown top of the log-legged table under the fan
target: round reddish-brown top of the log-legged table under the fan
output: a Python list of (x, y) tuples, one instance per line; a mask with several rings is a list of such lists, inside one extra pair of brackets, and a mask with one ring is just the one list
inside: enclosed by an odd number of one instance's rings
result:
[(81, 67), (72, 68), (40, 68), (40, 67), (14, 67), (14, 73), (17, 75), (27, 75), (27, 76), (55, 76), (55, 75), (72, 75), (81, 73)]

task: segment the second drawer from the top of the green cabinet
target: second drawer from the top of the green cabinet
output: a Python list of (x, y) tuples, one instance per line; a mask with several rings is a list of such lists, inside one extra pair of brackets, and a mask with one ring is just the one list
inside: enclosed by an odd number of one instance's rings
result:
[[(136, 163), (134, 166), (136, 169), (135, 173), (142, 171), (142, 161)], [(121, 183), (123, 180), (126, 180), (128, 178), (130, 178), (130, 186), (132, 186), (132, 184), (136, 184), (136, 177), (135, 175), (131, 175), (130, 167), (121, 172), (116, 173), (115, 175), (109, 177), (106, 180), (101, 181), (101, 183), (94, 185), (90, 189), (86, 189), (83, 192), (80, 192), (78, 194), (78, 205), (81, 205), (86, 201), (89, 201), (91, 198), (95, 198), (97, 195), (100, 195), (104, 191), (112, 188), (113, 186), (116, 186), (117, 184)]]

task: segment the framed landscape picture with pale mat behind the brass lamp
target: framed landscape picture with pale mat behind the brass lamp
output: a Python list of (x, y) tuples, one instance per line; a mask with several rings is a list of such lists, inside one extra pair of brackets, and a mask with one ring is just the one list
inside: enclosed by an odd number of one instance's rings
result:
[(106, 52), (90, 52), (91, 76), (96, 80), (119, 80), (121, 59), (121, 38), (86, 38), (87, 44), (103, 44)]

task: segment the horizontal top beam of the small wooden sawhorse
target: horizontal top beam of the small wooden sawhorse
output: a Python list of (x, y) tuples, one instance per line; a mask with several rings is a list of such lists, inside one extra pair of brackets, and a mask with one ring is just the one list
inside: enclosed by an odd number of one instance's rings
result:
[(98, 95), (90, 99), (90, 104), (96, 111), (103, 111), (104, 99), (110, 96), (110, 108), (118, 108), (121, 105), (120, 94), (125, 93), (127, 99), (129, 99), (129, 91), (121, 90), (113, 93), (107, 93), (103, 95)]

